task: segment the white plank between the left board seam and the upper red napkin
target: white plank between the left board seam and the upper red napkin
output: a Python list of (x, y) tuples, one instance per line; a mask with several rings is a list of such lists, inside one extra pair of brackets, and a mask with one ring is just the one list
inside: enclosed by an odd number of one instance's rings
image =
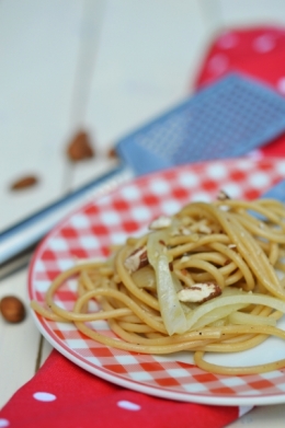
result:
[(106, 2), (84, 117), (99, 159), (77, 166), (75, 187), (106, 169), (121, 137), (191, 92), (212, 31), (197, 0)]

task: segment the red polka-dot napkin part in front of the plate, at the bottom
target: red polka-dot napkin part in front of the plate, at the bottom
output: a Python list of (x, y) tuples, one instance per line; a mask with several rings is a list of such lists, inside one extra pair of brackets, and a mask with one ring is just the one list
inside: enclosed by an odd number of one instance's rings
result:
[(90, 374), (54, 350), (4, 406), (0, 427), (220, 428), (248, 409), (180, 403), (129, 391)]

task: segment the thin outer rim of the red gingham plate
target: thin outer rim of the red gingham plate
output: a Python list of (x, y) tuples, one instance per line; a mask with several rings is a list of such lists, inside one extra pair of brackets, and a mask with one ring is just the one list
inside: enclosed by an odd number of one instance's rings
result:
[[(255, 163), (260, 163), (261, 161), (267, 161), (272, 162), (273, 164), (275, 162), (281, 162), (282, 160), (276, 157), (266, 157), (262, 159), (251, 159), (249, 157), (239, 157), (233, 159), (221, 159), (221, 160), (213, 160), (213, 161), (206, 161), (206, 162), (198, 162), (195, 164), (183, 164), (183, 165), (176, 165), (169, 169), (164, 169), (161, 171), (152, 172), (150, 174), (146, 174), (142, 176), (134, 177), (130, 181), (123, 183), (118, 185), (115, 189), (107, 192), (106, 194), (100, 196), (98, 199), (95, 199), (95, 205), (101, 198), (104, 198), (106, 195), (109, 197), (112, 197), (113, 194), (116, 194), (116, 192), (129, 184), (133, 183), (139, 183), (144, 180), (152, 180), (157, 175), (161, 175), (164, 173), (171, 173), (172, 171), (178, 171), (183, 167), (190, 167), (191, 166), (197, 166), (197, 165), (205, 165), (205, 164), (213, 164), (213, 163), (228, 163), (228, 162), (235, 162), (235, 161), (241, 161), (241, 160), (250, 160)], [(285, 163), (285, 160), (284, 160)], [(48, 233), (47, 235), (41, 241), (38, 246), (36, 247), (32, 259), (29, 265), (29, 274), (27, 274), (27, 294), (30, 301), (32, 300), (32, 292), (33, 292), (33, 274), (35, 270), (35, 263), (39, 258), (38, 255), (41, 255), (42, 250), (45, 247), (46, 243), (53, 239), (53, 235), (56, 234), (57, 231), (60, 231), (66, 221), (68, 221), (70, 218), (72, 218), (76, 213), (81, 212), (82, 209), (88, 207), (89, 205), (94, 204), (94, 201), (88, 201), (83, 203), (78, 207), (76, 210), (72, 210), (69, 212), (65, 218), (56, 224)], [(61, 355), (64, 355), (67, 359), (72, 361), (76, 366), (81, 367), (82, 369), (87, 370), (88, 372), (98, 375), (99, 378), (117, 384), (123, 387), (130, 389), (136, 392), (145, 393), (148, 395), (157, 396), (160, 398), (167, 398), (167, 400), (174, 400), (180, 402), (189, 402), (189, 403), (196, 403), (196, 404), (206, 404), (206, 405), (218, 405), (218, 406), (254, 406), (254, 405), (273, 405), (273, 404), (282, 404), (285, 403), (285, 392), (284, 393), (273, 393), (273, 394), (266, 394), (266, 395), (242, 395), (237, 396), (235, 395), (223, 395), (219, 394), (217, 396), (210, 395), (208, 393), (203, 392), (203, 394), (198, 392), (179, 392), (168, 389), (164, 389), (163, 386), (155, 386), (155, 385), (147, 385), (146, 383), (138, 382), (136, 380), (126, 379), (124, 377), (121, 377), (118, 373), (112, 372), (111, 370), (107, 370), (104, 367), (95, 366), (94, 363), (89, 362), (87, 359), (81, 357), (80, 355), (76, 354), (73, 349), (69, 348), (64, 342), (60, 342), (59, 338), (55, 335), (55, 333), (52, 331), (50, 326), (46, 323), (45, 319), (41, 315), (36, 314), (35, 311), (30, 308), (30, 312), (32, 314), (33, 321), (35, 322), (38, 331), (43, 334), (43, 336), (46, 338), (46, 340), (55, 348), (57, 349)], [(285, 378), (285, 372), (283, 373)], [(232, 377), (228, 377), (232, 378)]]

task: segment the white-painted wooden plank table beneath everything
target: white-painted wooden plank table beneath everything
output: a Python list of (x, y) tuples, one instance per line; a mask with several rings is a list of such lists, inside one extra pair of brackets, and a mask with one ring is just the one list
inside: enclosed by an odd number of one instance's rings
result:
[[(284, 0), (0, 0), (0, 231), (109, 171), (121, 136), (191, 91), (217, 31), (259, 23), (285, 24)], [(65, 148), (81, 128), (96, 157), (70, 166)], [(26, 173), (39, 184), (10, 192)], [(0, 298), (27, 305), (26, 276), (2, 279)], [(0, 407), (50, 349), (30, 315), (0, 320)], [(284, 418), (285, 406), (265, 406), (231, 427)]]

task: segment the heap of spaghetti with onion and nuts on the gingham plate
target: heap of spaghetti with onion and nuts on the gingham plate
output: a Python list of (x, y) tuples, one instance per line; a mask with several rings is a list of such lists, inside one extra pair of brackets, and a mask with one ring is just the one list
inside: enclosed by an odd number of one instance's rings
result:
[[(192, 203), (160, 217), (148, 233), (128, 238), (103, 262), (82, 261), (59, 275), (46, 292), (46, 319), (75, 323), (90, 338), (126, 351), (194, 352), (203, 370), (247, 374), (285, 367), (285, 360), (252, 367), (207, 362), (205, 352), (238, 352), (269, 336), (285, 313), (285, 206), (277, 200), (217, 199)], [(58, 289), (77, 277), (71, 311), (56, 303)], [(95, 300), (100, 310), (91, 309)], [(114, 335), (103, 335), (106, 320)]]

